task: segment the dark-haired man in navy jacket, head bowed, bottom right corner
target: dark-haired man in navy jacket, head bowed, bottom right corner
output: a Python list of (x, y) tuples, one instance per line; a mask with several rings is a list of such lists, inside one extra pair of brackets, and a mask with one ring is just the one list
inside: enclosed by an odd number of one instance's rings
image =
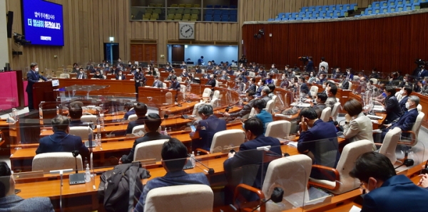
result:
[(367, 190), (361, 211), (427, 211), (427, 189), (415, 185), (405, 175), (397, 175), (383, 154), (362, 154), (350, 176), (359, 179), (361, 188)]

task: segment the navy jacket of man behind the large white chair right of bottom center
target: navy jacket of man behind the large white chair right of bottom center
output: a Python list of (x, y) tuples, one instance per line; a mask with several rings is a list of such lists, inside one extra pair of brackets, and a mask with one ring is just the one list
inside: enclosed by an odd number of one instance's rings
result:
[[(233, 169), (237, 169), (240, 166), (262, 164), (264, 151), (258, 151), (257, 147), (263, 146), (271, 147), (270, 152), (267, 153), (281, 157), (282, 152), (280, 140), (274, 137), (265, 137), (263, 134), (260, 134), (255, 139), (240, 144), (239, 152), (237, 152), (234, 157), (225, 160), (223, 167), (225, 169), (226, 176), (233, 177), (230, 175), (232, 174)], [(269, 163), (263, 164), (263, 169), (262, 166), (260, 166), (254, 184), (249, 186), (261, 189), (261, 183), (265, 179), (268, 165)]]

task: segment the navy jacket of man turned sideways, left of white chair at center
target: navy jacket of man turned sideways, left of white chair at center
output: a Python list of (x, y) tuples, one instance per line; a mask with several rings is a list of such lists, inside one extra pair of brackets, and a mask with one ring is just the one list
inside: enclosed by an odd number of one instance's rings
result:
[(206, 120), (200, 120), (198, 126), (199, 137), (202, 139), (202, 149), (210, 151), (211, 143), (216, 132), (226, 130), (226, 121), (220, 120), (215, 115), (211, 115)]

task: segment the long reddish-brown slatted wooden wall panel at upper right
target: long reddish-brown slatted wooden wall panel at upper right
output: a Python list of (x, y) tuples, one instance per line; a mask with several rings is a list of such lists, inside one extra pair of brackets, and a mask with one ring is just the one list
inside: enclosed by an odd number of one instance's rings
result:
[[(302, 65), (297, 58), (311, 55), (315, 66), (324, 56), (330, 68), (412, 73), (414, 59), (428, 60), (428, 13), (355, 21), (246, 24), (243, 51), (250, 62), (276, 63), (283, 68)], [(260, 28), (265, 36), (253, 38)], [(269, 37), (272, 33), (272, 37)]]

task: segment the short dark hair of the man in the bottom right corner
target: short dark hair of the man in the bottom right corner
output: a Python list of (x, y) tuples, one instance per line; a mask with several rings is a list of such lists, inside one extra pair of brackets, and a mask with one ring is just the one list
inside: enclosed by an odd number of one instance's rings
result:
[(378, 152), (366, 152), (360, 155), (355, 161), (354, 168), (350, 171), (350, 176), (363, 182), (368, 182), (370, 177), (387, 181), (395, 175), (391, 161)]

